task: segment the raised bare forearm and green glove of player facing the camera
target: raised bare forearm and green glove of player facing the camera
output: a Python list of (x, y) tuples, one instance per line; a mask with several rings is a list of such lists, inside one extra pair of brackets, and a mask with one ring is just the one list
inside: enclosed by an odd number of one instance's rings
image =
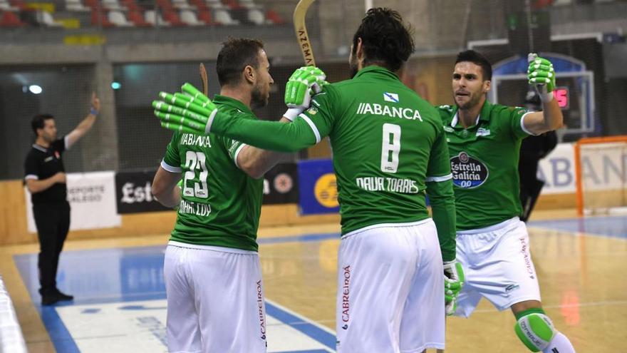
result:
[(530, 113), (524, 118), (525, 130), (534, 135), (540, 135), (559, 128), (564, 122), (564, 116), (561, 114), (557, 100), (553, 97), (555, 88), (553, 64), (536, 54), (529, 54), (527, 73), (529, 84), (533, 85), (540, 95), (542, 111)]

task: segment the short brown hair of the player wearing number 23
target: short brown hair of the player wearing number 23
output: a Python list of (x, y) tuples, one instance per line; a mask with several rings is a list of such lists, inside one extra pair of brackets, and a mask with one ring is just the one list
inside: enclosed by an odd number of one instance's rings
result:
[(246, 66), (259, 68), (259, 51), (263, 48), (259, 39), (229, 38), (222, 43), (216, 63), (220, 86), (239, 83)]

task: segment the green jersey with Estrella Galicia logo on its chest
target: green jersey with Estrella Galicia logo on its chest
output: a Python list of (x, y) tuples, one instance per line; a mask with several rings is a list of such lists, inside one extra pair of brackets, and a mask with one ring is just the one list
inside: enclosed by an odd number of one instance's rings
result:
[(485, 101), (474, 126), (464, 128), (456, 106), (438, 107), (448, 138), (457, 230), (495, 225), (522, 213), (518, 160), (524, 108)]

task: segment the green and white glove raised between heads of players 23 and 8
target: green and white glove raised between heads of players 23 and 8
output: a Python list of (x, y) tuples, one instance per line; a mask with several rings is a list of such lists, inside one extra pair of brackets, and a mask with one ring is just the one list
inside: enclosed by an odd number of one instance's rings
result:
[(288, 108), (309, 108), (312, 94), (322, 91), (327, 84), (326, 74), (315, 66), (296, 69), (285, 86), (285, 104)]

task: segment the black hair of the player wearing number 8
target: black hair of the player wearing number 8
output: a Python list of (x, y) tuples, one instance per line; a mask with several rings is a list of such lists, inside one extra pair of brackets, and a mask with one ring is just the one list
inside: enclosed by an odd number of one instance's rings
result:
[(396, 71), (414, 52), (413, 29), (403, 24), (397, 11), (370, 9), (353, 36), (353, 55), (357, 52), (357, 40), (361, 38), (364, 66), (383, 63), (391, 71)]

